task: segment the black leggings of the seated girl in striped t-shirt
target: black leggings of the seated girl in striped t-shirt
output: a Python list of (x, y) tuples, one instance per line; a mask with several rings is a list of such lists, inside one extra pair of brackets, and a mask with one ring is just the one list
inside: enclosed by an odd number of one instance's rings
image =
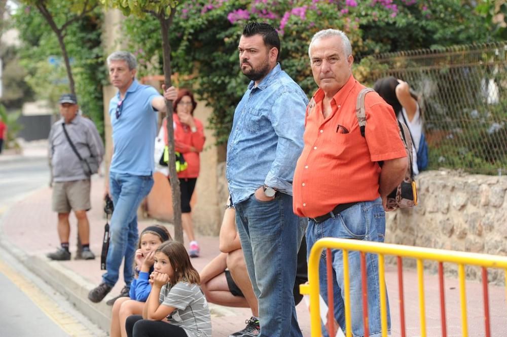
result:
[(187, 337), (187, 332), (179, 326), (142, 319), (141, 315), (127, 317), (125, 328), (128, 337)]

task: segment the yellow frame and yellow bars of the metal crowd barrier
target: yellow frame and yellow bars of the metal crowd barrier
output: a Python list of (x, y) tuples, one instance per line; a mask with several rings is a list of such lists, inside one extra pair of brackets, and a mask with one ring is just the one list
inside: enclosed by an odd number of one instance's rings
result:
[[(352, 336), (350, 317), (350, 280), (348, 251), (376, 253), (379, 255), (379, 287), (381, 303), (382, 337), (387, 337), (387, 300), (384, 281), (384, 255), (402, 256), (417, 260), (417, 276), (419, 283), (419, 308), (421, 336), (426, 337), (425, 307), (424, 307), (424, 284), (423, 284), (423, 261), (433, 260), (440, 263), (455, 263), (458, 265), (458, 277), (460, 285), (462, 335), (468, 337), (466, 317), (466, 294), (465, 294), (465, 265), (480, 266), (484, 268), (500, 268), (505, 271), (505, 297), (507, 298), (507, 256), (459, 252), (444, 249), (423, 248), (371, 241), (358, 241), (350, 239), (324, 238), (313, 245), (308, 258), (308, 284), (301, 285), (302, 294), (310, 295), (310, 323), (312, 337), (321, 337), (320, 307), (319, 307), (319, 260), (322, 250), (325, 248), (343, 250), (344, 292), (345, 292), (345, 327), (346, 336)], [(483, 280), (484, 282), (484, 280)], [(487, 282), (487, 280), (486, 280)], [(489, 313), (487, 313), (489, 315)], [(487, 317), (489, 320), (489, 317)], [(488, 328), (486, 328), (488, 330)], [(488, 334), (488, 333), (487, 333)], [(334, 337), (334, 336), (331, 336)]]

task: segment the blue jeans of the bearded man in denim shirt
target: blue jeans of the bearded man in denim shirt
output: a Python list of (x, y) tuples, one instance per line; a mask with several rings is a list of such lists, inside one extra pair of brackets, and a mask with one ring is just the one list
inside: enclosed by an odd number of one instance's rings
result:
[(294, 306), (297, 256), (307, 219), (293, 213), (292, 196), (251, 195), (236, 204), (248, 276), (259, 300), (260, 337), (302, 337)]

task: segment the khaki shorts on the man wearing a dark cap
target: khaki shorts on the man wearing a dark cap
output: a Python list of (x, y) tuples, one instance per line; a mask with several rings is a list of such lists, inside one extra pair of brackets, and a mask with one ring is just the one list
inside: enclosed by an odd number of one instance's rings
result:
[(88, 211), (90, 203), (90, 179), (53, 183), (53, 211), (70, 213), (70, 210)]

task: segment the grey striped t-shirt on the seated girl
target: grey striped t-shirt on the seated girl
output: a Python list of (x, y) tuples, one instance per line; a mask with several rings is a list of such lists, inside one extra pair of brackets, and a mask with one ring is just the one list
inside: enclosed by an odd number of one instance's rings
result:
[(171, 287), (168, 283), (160, 290), (159, 302), (176, 308), (168, 323), (182, 327), (189, 337), (211, 337), (211, 317), (208, 302), (199, 285), (178, 282)]

